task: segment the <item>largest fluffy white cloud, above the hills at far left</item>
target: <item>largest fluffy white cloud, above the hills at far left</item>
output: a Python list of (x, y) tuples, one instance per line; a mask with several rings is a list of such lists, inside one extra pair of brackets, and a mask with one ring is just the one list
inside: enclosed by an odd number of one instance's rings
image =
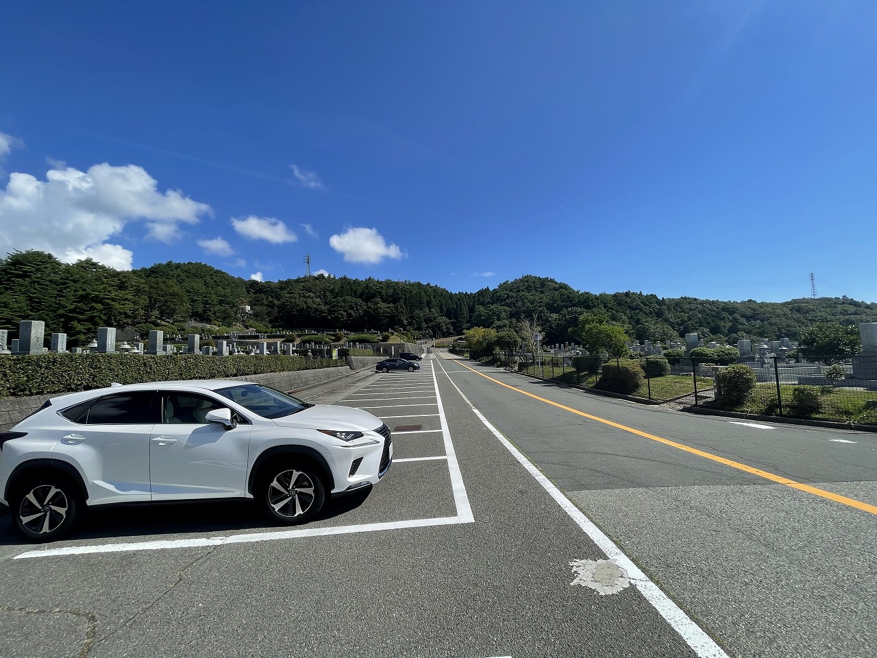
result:
[(131, 269), (133, 254), (108, 240), (133, 222), (146, 220), (146, 237), (174, 240), (181, 224), (197, 224), (210, 206), (180, 190), (157, 190), (158, 182), (135, 165), (106, 162), (88, 171), (51, 169), (46, 181), (12, 173), (0, 189), (0, 254), (37, 249), (59, 260), (91, 257), (111, 268)]

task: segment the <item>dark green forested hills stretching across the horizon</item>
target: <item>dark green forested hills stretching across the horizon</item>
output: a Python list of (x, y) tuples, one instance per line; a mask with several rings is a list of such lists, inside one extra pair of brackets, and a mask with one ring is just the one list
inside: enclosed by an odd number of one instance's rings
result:
[[(249, 306), (252, 314), (241, 312)], [(41, 319), (46, 333), (66, 332), (71, 346), (91, 340), (98, 326), (179, 325), (363, 332), (403, 329), (420, 336), (461, 333), (473, 326), (517, 327), (537, 318), (549, 344), (572, 340), (567, 330), (588, 311), (605, 311), (638, 340), (703, 338), (795, 340), (817, 322), (877, 322), (877, 304), (845, 297), (769, 303), (721, 302), (639, 292), (579, 292), (566, 283), (526, 275), (495, 289), (452, 293), (427, 283), (309, 276), (246, 281), (197, 262), (166, 262), (119, 272), (94, 261), (73, 265), (27, 251), (0, 261), (0, 328)]]

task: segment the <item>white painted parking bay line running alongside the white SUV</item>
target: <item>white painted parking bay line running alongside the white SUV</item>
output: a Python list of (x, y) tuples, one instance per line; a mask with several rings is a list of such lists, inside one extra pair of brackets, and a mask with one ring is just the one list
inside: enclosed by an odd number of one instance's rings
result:
[(302, 537), (324, 537), (332, 534), (374, 533), (379, 530), (400, 530), (402, 528), (419, 528), (426, 526), (453, 526), (459, 523), (471, 523), (459, 517), (444, 519), (415, 519), (410, 521), (389, 521), (386, 523), (368, 523), (358, 526), (335, 526), (328, 528), (304, 528), (302, 530), (285, 530), (275, 533), (235, 534), (229, 537), (203, 537), (190, 540), (157, 540), (138, 541), (125, 544), (102, 544), (98, 546), (72, 546), (67, 548), (46, 548), (27, 551), (13, 557), (13, 560), (25, 560), (32, 557), (54, 557), (57, 555), (84, 555), (93, 553), (122, 553), (124, 551), (149, 551), (161, 548), (191, 548), (202, 546), (223, 546), (226, 544), (246, 544), (254, 541), (290, 540)]

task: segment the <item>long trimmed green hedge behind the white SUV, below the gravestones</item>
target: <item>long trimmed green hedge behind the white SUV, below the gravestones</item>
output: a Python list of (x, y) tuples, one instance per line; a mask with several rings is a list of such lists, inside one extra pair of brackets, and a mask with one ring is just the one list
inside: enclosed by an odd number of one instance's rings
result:
[(0, 357), (0, 397), (98, 389), (113, 382), (222, 379), (344, 366), (344, 361), (283, 354), (35, 354)]

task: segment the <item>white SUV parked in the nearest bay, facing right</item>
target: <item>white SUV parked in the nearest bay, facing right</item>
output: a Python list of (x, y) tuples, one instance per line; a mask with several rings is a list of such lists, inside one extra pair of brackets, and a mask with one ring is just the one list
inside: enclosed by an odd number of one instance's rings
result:
[(360, 409), (246, 382), (113, 385), (54, 397), (0, 433), (0, 503), (36, 541), (116, 503), (254, 498), (291, 525), (392, 459), (389, 427)]

